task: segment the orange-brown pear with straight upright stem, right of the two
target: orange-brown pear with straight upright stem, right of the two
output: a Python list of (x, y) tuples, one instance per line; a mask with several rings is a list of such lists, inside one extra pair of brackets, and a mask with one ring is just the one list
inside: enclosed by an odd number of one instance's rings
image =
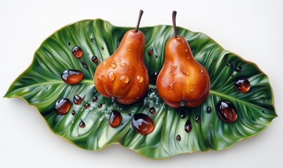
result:
[(157, 77), (157, 92), (173, 108), (199, 106), (209, 95), (209, 73), (193, 57), (187, 40), (177, 35), (176, 11), (173, 11), (172, 20), (174, 36), (166, 43), (164, 65)]

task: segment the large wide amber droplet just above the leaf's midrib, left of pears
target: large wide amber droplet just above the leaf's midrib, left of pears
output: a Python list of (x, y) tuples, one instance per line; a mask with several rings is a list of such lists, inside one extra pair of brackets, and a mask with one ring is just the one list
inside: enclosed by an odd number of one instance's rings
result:
[(76, 69), (67, 69), (61, 73), (62, 80), (67, 84), (79, 83), (83, 77), (84, 74)]

